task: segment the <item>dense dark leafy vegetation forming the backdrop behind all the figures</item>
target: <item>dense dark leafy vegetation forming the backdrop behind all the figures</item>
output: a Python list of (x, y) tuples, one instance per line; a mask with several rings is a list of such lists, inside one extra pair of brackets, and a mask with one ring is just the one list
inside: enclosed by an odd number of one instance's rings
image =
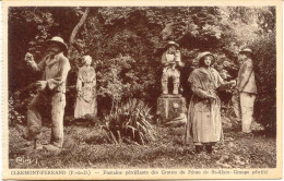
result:
[[(180, 45), (182, 95), (189, 99), (187, 79), (198, 53), (212, 51), (218, 71), (224, 61), (237, 68), (241, 47), (255, 51), (259, 97), (256, 120), (275, 133), (276, 50), (273, 7), (176, 7), (176, 8), (10, 8), (9, 93), (10, 96), (39, 80), (23, 61), (27, 51), (43, 56), (44, 41), (61, 36), (69, 44), (74, 85), (81, 58), (91, 55), (97, 73), (98, 113), (128, 98), (155, 107), (161, 94), (161, 55), (167, 40)], [(228, 71), (229, 72), (229, 71)], [(236, 76), (232, 73), (232, 76)], [(10, 98), (10, 120), (24, 121), (26, 104), (34, 95), (24, 92)], [(67, 116), (73, 113), (75, 90), (67, 93)], [(110, 104), (113, 102), (113, 104)]]

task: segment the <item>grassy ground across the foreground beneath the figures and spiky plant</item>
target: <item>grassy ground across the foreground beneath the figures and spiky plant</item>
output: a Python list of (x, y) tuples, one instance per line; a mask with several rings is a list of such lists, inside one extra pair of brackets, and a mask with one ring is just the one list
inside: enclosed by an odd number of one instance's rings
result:
[[(64, 128), (60, 153), (37, 150), (21, 137), (21, 125), (10, 128), (10, 168), (274, 168), (276, 142), (263, 134), (242, 136), (236, 124), (224, 125), (224, 142), (209, 155), (194, 155), (184, 145), (185, 128), (155, 125), (157, 137), (146, 145), (109, 144), (99, 126)], [(43, 143), (50, 138), (50, 128), (43, 128)], [(37, 159), (31, 165), (17, 164), (17, 157)]]

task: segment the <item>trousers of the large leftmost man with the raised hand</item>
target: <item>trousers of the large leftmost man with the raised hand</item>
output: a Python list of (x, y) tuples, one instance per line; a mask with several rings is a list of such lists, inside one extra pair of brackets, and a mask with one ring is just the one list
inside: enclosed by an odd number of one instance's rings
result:
[[(48, 109), (48, 107), (50, 109)], [(35, 140), (42, 138), (42, 119), (46, 110), (50, 110), (51, 138), (50, 144), (57, 147), (63, 145), (63, 116), (66, 95), (63, 93), (37, 93), (27, 110), (28, 135)]]

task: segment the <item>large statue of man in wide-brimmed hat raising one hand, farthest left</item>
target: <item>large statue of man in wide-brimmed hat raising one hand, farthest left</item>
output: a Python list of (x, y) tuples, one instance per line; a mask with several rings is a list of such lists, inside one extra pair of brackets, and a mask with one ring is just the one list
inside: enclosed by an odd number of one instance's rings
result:
[[(63, 144), (66, 81), (70, 63), (63, 55), (68, 47), (61, 37), (47, 40), (46, 46), (46, 55), (39, 63), (36, 63), (33, 55), (28, 52), (25, 57), (27, 64), (35, 71), (43, 72), (43, 79), (36, 83), (37, 94), (28, 106), (28, 134), (24, 135), (24, 138), (34, 141), (35, 149), (59, 150)], [(51, 108), (51, 138), (50, 144), (43, 146), (40, 144), (42, 117), (48, 107)]]

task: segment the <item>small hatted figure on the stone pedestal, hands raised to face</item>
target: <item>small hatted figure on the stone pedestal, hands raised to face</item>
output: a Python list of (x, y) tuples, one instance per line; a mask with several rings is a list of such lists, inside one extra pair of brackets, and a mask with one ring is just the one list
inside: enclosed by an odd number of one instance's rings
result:
[(162, 89), (163, 94), (168, 94), (168, 79), (173, 77), (174, 89), (173, 94), (178, 94), (180, 72), (176, 67), (184, 67), (180, 59), (179, 45), (175, 41), (168, 41), (167, 50), (162, 56), (163, 75)]

